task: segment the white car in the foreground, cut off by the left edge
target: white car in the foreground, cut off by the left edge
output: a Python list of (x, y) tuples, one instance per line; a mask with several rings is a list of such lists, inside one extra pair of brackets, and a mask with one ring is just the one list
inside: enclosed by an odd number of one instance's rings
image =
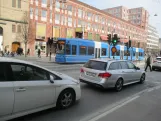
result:
[(0, 121), (68, 108), (81, 98), (80, 82), (67, 75), (5, 57), (0, 68)]

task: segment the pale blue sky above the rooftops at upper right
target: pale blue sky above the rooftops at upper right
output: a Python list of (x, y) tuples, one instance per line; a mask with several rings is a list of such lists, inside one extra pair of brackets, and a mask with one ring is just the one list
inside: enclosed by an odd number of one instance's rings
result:
[[(80, 0), (98, 9), (125, 6), (127, 8), (144, 7), (150, 14), (150, 25), (157, 28), (161, 38), (161, 0)], [(157, 14), (157, 16), (154, 16)]]

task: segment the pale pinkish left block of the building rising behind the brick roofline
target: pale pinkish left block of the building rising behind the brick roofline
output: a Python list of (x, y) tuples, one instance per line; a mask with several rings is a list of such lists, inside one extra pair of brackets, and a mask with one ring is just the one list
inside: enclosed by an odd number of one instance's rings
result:
[(104, 9), (103, 11), (118, 17), (120, 19), (129, 20), (129, 10), (128, 8), (124, 7), (124, 6), (118, 6), (118, 7), (114, 7), (114, 8), (108, 8), (108, 9)]

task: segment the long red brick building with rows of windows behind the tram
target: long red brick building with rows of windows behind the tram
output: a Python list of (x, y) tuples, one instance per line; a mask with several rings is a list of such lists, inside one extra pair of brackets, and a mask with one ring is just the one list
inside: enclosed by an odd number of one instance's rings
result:
[[(84, 34), (83, 34), (84, 30)], [(144, 28), (77, 0), (30, 0), (29, 48), (36, 54), (38, 47), (46, 52), (48, 37), (85, 38), (105, 41), (107, 34), (116, 33), (121, 41), (132, 46), (145, 47), (147, 33)]]

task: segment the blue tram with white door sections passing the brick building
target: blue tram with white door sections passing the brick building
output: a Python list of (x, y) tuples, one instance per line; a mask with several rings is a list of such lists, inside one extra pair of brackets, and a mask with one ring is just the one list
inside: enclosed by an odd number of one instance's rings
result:
[[(130, 48), (126, 55), (127, 47), (117, 45), (115, 55), (111, 53), (108, 43), (84, 40), (79, 38), (59, 38), (57, 41), (57, 52), (55, 62), (57, 63), (84, 63), (91, 58), (110, 58), (143, 60), (144, 50), (141, 48)], [(110, 53), (109, 53), (110, 49)]]

